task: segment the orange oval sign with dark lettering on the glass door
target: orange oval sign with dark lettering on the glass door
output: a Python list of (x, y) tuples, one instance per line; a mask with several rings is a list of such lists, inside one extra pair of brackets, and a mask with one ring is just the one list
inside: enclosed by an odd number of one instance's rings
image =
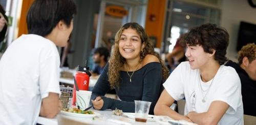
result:
[(116, 17), (123, 17), (128, 14), (128, 11), (120, 6), (108, 6), (106, 7), (106, 14)]

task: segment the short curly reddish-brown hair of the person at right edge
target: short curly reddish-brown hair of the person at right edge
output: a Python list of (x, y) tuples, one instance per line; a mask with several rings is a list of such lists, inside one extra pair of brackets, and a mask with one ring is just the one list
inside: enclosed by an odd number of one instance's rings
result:
[(238, 63), (242, 64), (243, 58), (247, 57), (249, 62), (256, 59), (256, 45), (254, 43), (249, 43), (242, 47), (242, 49), (238, 52)]

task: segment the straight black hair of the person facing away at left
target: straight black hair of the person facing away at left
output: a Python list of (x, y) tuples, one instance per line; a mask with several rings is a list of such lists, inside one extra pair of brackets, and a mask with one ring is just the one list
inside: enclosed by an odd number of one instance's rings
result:
[(61, 20), (69, 27), (74, 14), (73, 0), (35, 0), (27, 14), (28, 32), (45, 37)]

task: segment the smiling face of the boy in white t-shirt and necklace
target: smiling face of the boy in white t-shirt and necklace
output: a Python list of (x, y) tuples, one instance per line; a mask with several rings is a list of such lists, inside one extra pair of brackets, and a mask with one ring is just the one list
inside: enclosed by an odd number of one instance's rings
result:
[(204, 49), (200, 45), (189, 46), (187, 45), (187, 50), (185, 53), (189, 60), (189, 65), (191, 69), (203, 69), (208, 61), (210, 61), (209, 53), (204, 52)]

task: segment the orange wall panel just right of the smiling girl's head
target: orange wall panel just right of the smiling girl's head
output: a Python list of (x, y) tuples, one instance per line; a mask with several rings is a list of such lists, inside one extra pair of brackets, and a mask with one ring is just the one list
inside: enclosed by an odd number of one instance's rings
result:
[(148, 36), (156, 37), (156, 47), (161, 47), (166, 0), (148, 0), (145, 29)]

